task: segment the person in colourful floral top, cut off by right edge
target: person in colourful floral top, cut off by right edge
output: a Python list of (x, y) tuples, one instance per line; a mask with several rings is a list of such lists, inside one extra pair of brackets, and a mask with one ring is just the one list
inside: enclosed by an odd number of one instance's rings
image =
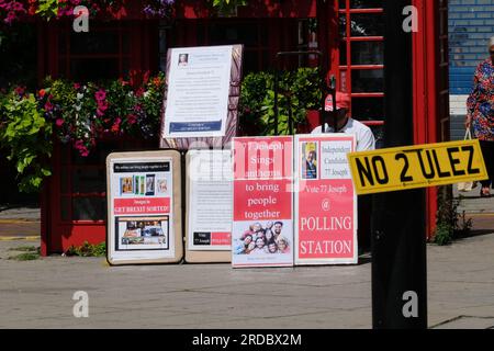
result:
[(467, 129), (473, 126), (487, 168), (489, 179), (481, 182), (481, 197), (491, 197), (494, 184), (494, 36), (489, 41), (489, 54), (491, 57), (476, 67), (464, 122)]

